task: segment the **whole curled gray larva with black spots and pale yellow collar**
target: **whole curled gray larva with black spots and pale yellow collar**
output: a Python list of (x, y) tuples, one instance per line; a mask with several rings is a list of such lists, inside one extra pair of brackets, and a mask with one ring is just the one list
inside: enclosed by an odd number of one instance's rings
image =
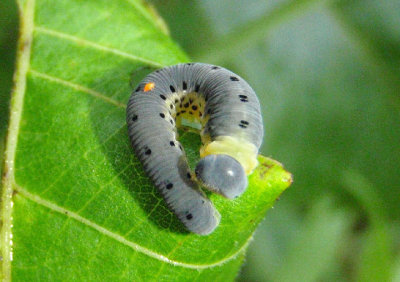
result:
[(247, 186), (246, 174), (257, 165), (263, 137), (260, 105), (241, 77), (201, 63), (157, 70), (130, 97), (127, 123), (136, 155), (183, 224), (206, 235), (218, 226), (220, 215), (198, 188), (177, 141), (176, 126), (184, 120), (202, 125), (197, 180), (235, 198)]

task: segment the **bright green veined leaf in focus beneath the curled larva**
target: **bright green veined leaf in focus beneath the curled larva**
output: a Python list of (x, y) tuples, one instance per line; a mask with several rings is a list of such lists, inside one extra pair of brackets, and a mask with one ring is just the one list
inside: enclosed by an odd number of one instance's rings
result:
[[(132, 74), (137, 82), (187, 57), (137, 1), (19, 6), (2, 179), (3, 279), (233, 280), (290, 173), (260, 156), (242, 197), (210, 195), (222, 215), (218, 229), (188, 233), (134, 157), (125, 125)], [(199, 140), (182, 134), (192, 161)]]

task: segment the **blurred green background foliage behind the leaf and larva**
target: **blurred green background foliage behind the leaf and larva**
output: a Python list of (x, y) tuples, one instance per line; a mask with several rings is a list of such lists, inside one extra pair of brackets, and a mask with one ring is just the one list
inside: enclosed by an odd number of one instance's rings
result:
[[(193, 61), (247, 79), (261, 152), (294, 175), (238, 280), (400, 281), (400, 1), (145, 3)], [(0, 149), (16, 12), (0, 2)]]

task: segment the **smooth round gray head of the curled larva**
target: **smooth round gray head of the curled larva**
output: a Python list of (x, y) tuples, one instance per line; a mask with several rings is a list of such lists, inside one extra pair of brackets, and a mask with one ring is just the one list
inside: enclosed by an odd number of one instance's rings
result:
[(233, 199), (247, 188), (247, 176), (242, 165), (228, 155), (208, 155), (195, 169), (197, 179), (205, 188)]

